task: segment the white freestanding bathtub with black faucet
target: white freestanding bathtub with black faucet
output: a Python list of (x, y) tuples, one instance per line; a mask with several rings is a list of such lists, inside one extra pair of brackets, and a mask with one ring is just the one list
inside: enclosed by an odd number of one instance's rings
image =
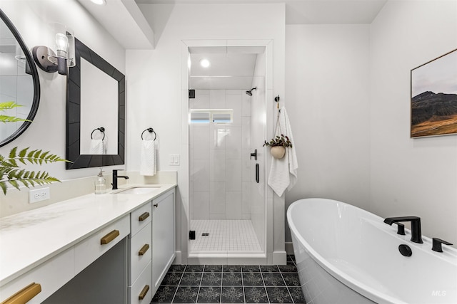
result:
[[(287, 220), (308, 304), (457, 303), (455, 248), (432, 251), (431, 239), (413, 243), (408, 229), (401, 236), (396, 224), (331, 199), (295, 201)], [(411, 256), (399, 252), (401, 244)]]

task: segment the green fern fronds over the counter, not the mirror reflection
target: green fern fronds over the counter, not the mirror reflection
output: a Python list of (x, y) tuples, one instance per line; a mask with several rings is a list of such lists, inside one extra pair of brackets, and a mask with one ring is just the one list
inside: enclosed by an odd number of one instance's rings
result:
[(0, 187), (6, 194), (7, 184), (11, 184), (16, 189), (23, 184), (25, 187), (35, 187), (36, 185), (51, 184), (60, 182), (56, 177), (51, 177), (46, 171), (29, 171), (21, 169), (20, 164), (49, 164), (52, 162), (67, 162), (49, 151), (29, 150), (30, 147), (17, 152), (17, 147), (11, 149), (8, 157), (0, 154)]

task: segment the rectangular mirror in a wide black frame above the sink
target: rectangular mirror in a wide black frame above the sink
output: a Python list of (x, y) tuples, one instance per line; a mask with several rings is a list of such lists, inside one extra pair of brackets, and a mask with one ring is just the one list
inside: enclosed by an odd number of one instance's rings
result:
[[(92, 51), (89, 47), (84, 45), (81, 41), (75, 38), (75, 55), (76, 55), (76, 65), (72, 68), (69, 68), (69, 77), (67, 81), (68, 85), (68, 97), (66, 103), (66, 159), (70, 160), (71, 163), (66, 163), (66, 169), (79, 169), (79, 168), (88, 168), (88, 167), (102, 167), (102, 166), (112, 166), (116, 164), (124, 164), (124, 154), (125, 154), (125, 76), (119, 70), (114, 68), (113, 65), (108, 63)], [(84, 73), (81, 70), (81, 59), (87, 61), (87, 63), (94, 65), (94, 67), (101, 70), (109, 77), (116, 80), (116, 97), (117, 100), (108, 100), (103, 101), (99, 100), (87, 100), (86, 98), (81, 98), (81, 77), (91, 77), (94, 75), (89, 75)], [(86, 63), (85, 63), (86, 64)], [(86, 81), (86, 79), (85, 79)], [(96, 82), (97, 77), (91, 78), (89, 81)], [(100, 86), (100, 90), (104, 90), (104, 86)], [(107, 94), (108, 95), (108, 94)], [(112, 94), (111, 94), (112, 95)], [(81, 141), (90, 140), (91, 137), (81, 136), (81, 129), (83, 127), (82, 123), (87, 123), (86, 120), (81, 121), (81, 116), (84, 116), (84, 113), (81, 110), (91, 108), (82, 107), (83, 103), (112, 103), (116, 102), (115, 113), (112, 114), (113, 117), (108, 117), (108, 120), (116, 120), (117, 132), (116, 136), (111, 138), (117, 138), (117, 150), (113, 154), (82, 154), (81, 152)], [(105, 105), (102, 105), (102, 107)], [(106, 105), (108, 106), (108, 105)], [(106, 112), (99, 112), (98, 115), (106, 116)], [(106, 119), (106, 117), (104, 117)], [(94, 119), (92, 119), (94, 120)], [(95, 119), (96, 120), (96, 119)], [(99, 126), (96, 121), (94, 125)], [(103, 126), (99, 126), (103, 127)], [(111, 130), (113, 132), (113, 130)]]

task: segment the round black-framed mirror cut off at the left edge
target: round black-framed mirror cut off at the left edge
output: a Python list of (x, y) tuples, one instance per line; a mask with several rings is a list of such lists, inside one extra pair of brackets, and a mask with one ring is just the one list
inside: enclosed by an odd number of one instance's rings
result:
[(36, 65), (29, 49), (0, 9), (0, 147), (31, 124), (40, 98)]

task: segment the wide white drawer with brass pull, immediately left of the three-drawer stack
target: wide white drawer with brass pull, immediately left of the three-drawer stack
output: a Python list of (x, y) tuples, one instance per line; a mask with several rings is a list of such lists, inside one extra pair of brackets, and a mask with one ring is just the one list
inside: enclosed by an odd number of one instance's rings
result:
[(116, 245), (130, 233), (129, 215), (104, 227), (74, 247), (75, 271), (79, 273), (99, 256)]

